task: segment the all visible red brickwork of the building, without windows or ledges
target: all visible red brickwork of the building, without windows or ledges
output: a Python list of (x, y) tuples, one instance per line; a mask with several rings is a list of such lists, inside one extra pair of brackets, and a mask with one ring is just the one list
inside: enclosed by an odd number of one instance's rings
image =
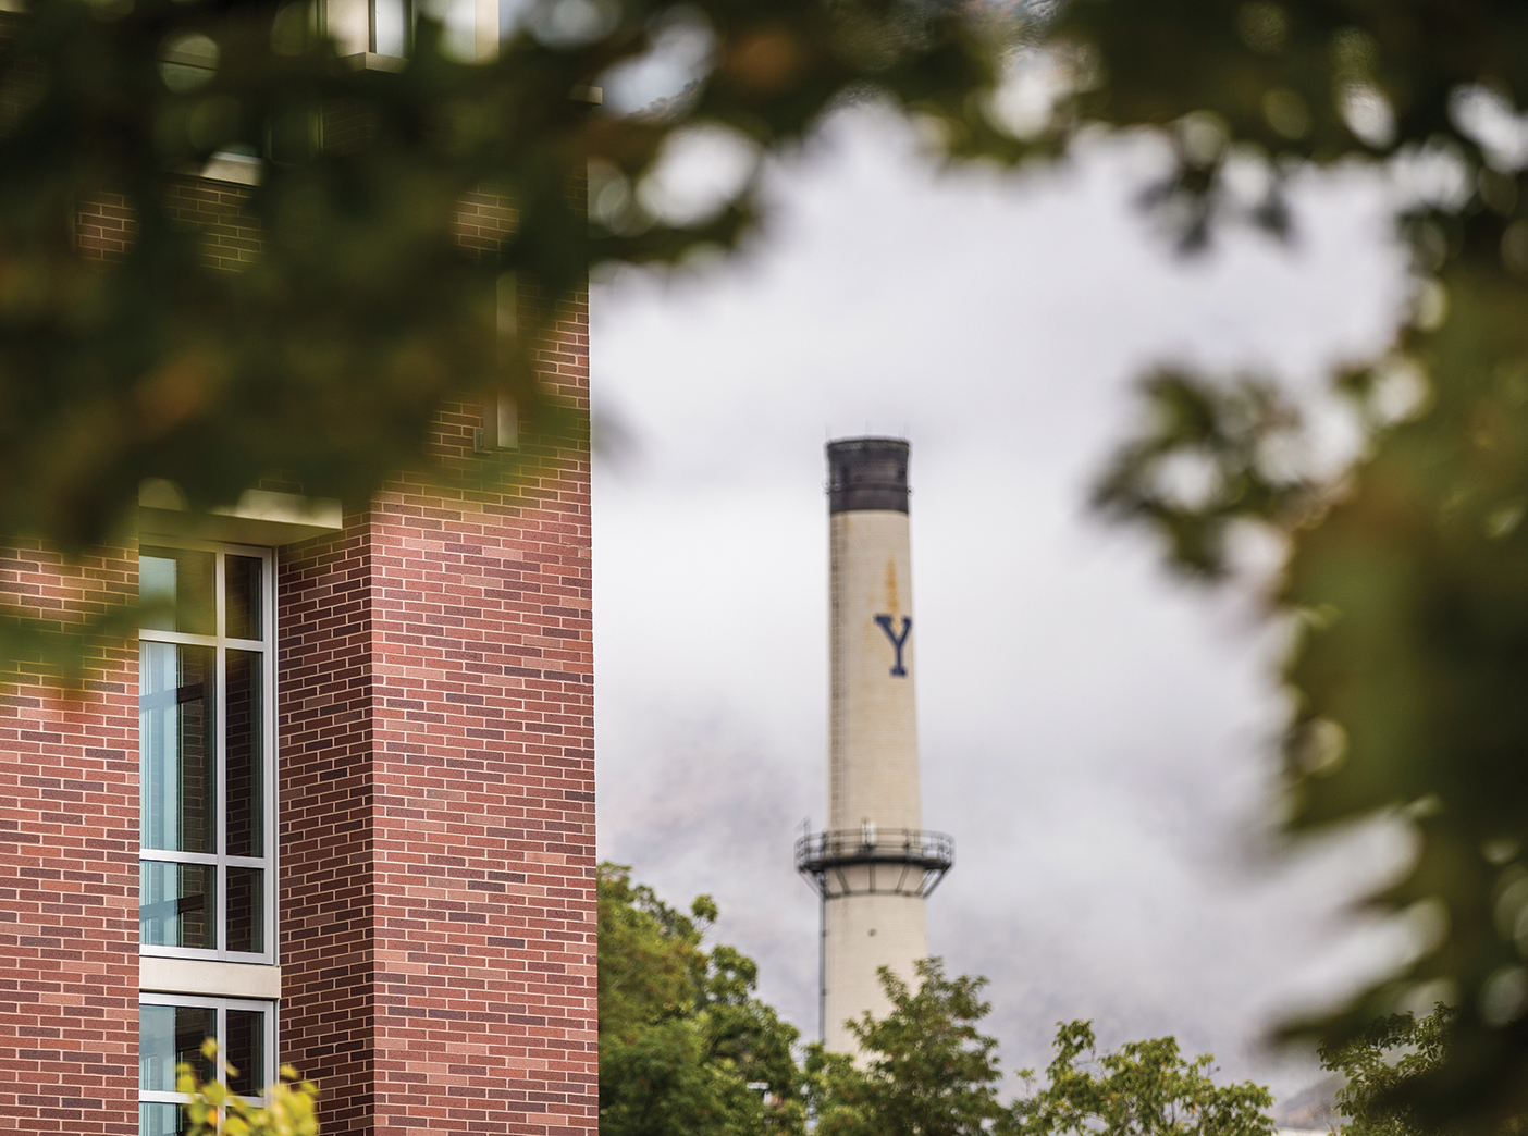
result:
[[(260, 249), (244, 195), (186, 179), (170, 208), (234, 269)], [(458, 238), (490, 249), (512, 226), (484, 189)], [(133, 231), (118, 197), (81, 206), (89, 258)], [(448, 406), (439, 476), (278, 551), (281, 1060), (321, 1083), (325, 1136), (597, 1128), (585, 301), (530, 356), (571, 411), (564, 435), (527, 428), (513, 461), (480, 457), (480, 408)], [(18, 553), (0, 592), (89, 608), (81, 580), (136, 591), (124, 556)], [(49, 690), (29, 678), (0, 702), (20, 849), (0, 896), (0, 1130), (130, 1133), (136, 652), (104, 655), (83, 699)]]

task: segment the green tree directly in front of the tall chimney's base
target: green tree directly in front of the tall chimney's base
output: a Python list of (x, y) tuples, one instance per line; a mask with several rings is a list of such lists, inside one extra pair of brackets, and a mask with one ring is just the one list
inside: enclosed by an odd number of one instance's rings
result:
[(976, 1028), (992, 1009), (979, 997), (987, 980), (946, 977), (940, 959), (915, 968), (914, 983), (880, 968), (891, 1009), (850, 1023), (859, 1061), (810, 1047), (821, 1136), (975, 1136), (1001, 1115), (998, 1043)]

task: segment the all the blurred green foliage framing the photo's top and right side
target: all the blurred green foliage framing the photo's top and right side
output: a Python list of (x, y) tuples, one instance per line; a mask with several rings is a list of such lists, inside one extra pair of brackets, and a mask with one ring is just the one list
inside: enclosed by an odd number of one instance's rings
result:
[[(599, 18), (549, 32), (568, 3)], [(1528, 6), (544, 0), (490, 63), (452, 56), (423, 12), (391, 70), (339, 58), (301, 5), (20, 6), (0, 15), (0, 530), (66, 551), (124, 533), (142, 478), (193, 507), (274, 470), (356, 499), (423, 460), (448, 397), (545, 408), (526, 345), (590, 266), (680, 261), (756, 223), (756, 177), (698, 215), (654, 205), (666, 148), (700, 127), (761, 160), (880, 98), (935, 156), (999, 162), (1088, 124), (1151, 127), (1177, 163), (1143, 208), (1184, 249), (1225, 223), (1297, 234), (1284, 186), (1311, 163), (1412, 171), (1397, 224), (1416, 302), (1384, 359), (1334, 377), (1368, 432), (1355, 463), (1291, 460), (1302, 424), (1268, 383), (1160, 376), (1100, 499), (1201, 579), (1244, 528), (1284, 542), (1290, 826), (1409, 825), (1418, 854), (1375, 904), (1427, 928), (1400, 977), (1320, 1028), (1355, 1037), (1445, 988), (1455, 1041), (1397, 1092), (1485, 1128), (1528, 1112)], [(663, 113), (573, 98), (675, 27), (704, 64)], [(215, 66), (168, 66), (188, 44)], [(1033, 75), (1044, 98), (1010, 98)], [(165, 205), (223, 151), (266, 159), (243, 206), (261, 244), (238, 270), (211, 267)], [(468, 249), (455, 211), (483, 188), (518, 226)], [(76, 218), (101, 194), (136, 231), (90, 261)], [(535, 299), (507, 348), (506, 278)]]

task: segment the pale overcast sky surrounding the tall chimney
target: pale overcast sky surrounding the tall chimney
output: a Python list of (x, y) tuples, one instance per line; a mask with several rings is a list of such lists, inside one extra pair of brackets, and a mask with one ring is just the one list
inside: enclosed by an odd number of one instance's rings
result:
[(594, 289), (594, 412), (626, 438), (594, 466), (601, 855), (712, 893), (717, 938), (816, 1034), (792, 841), (825, 815), (822, 444), (905, 435), (923, 814), (957, 840), (931, 951), (992, 979), (1007, 1069), (1085, 1017), (1297, 1092), (1314, 1066), (1259, 1038), (1375, 965), (1345, 904), (1394, 841), (1268, 854), (1279, 628), (1086, 498), (1154, 363), (1311, 388), (1387, 342), (1384, 197), (1337, 171), (1291, 244), (1184, 261), (1131, 205), (1149, 142), (1024, 174), (917, 154), (851, 111), (775, 173), (743, 260)]

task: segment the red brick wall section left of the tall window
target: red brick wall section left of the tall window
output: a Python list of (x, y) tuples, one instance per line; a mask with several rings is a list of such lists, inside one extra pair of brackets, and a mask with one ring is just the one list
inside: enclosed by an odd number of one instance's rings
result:
[[(134, 550), (0, 551), (0, 591), (84, 618), (138, 591)], [(138, 652), (76, 689), (0, 675), (0, 1130), (138, 1131)]]

